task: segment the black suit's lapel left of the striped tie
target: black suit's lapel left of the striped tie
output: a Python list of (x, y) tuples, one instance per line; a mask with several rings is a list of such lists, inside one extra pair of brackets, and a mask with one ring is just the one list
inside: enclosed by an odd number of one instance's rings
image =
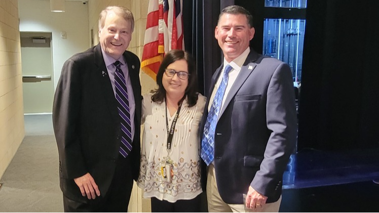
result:
[[(100, 76), (100, 82), (99, 85), (101, 87), (102, 94), (104, 95), (104, 98), (106, 100), (106, 105), (109, 108), (110, 114), (113, 117), (113, 120), (119, 119), (119, 114), (117, 110), (117, 103), (115, 99), (115, 93), (113, 93), (112, 84), (110, 83), (108, 70), (106, 69), (104, 58), (101, 53), (101, 47), (100, 45), (97, 45), (94, 49), (95, 54), (95, 64), (97, 66), (96, 75)], [(110, 90), (109, 90), (110, 89)]]

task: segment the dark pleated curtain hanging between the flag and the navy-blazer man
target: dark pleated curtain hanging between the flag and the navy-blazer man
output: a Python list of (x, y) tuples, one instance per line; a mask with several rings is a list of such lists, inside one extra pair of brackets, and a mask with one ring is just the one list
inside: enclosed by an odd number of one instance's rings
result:
[(221, 65), (222, 54), (214, 38), (214, 29), (222, 8), (234, 0), (183, 1), (185, 50), (196, 59), (199, 92), (207, 94), (212, 74)]

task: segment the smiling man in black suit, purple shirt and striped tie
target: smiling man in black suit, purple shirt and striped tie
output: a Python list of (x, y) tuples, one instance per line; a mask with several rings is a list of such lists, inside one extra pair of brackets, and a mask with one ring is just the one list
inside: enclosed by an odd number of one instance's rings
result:
[[(127, 212), (140, 162), (140, 61), (125, 51), (134, 29), (126, 8), (100, 14), (100, 44), (63, 65), (53, 105), (65, 212)], [(126, 79), (132, 150), (119, 152), (121, 118), (115, 98), (116, 61)]]

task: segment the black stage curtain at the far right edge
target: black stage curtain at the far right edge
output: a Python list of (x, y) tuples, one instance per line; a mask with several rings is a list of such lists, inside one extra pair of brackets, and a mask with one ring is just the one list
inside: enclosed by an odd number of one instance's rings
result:
[(298, 151), (379, 147), (378, 8), (308, 1)]

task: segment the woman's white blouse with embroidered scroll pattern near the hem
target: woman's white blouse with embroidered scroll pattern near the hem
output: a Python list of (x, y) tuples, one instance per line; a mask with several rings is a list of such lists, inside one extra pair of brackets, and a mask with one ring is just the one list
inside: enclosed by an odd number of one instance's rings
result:
[[(137, 185), (143, 190), (144, 198), (156, 197), (169, 202), (193, 199), (202, 192), (198, 130), (206, 98), (199, 94), (193, 107), (188, 107), (186, 99), (183, 101), (171, 150), (167, 153), (166, 104), (165, 101), (161, 104), (151, 101), (151, 95), (144, 95), (142, 101), (141, 123), (144, 128)], [(170, 116), (168, 113), (170, 127), (175, 114)], [(173, 160), (170, 183), (161, 178), (160, 163), (167, 154)]]

